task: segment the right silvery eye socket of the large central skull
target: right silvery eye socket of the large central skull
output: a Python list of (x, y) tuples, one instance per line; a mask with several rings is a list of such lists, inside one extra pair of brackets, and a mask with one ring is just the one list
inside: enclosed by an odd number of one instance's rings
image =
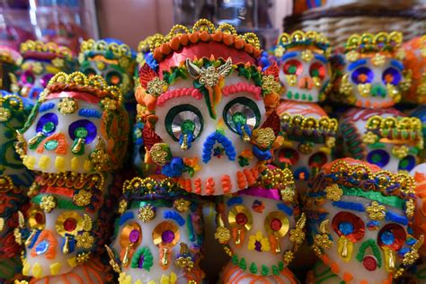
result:
[(226, 126), (238, 134), (244, 126), (250, 129), (258, 128), (261, 122), (261, 111), (252, 100), (239, 97), (226, 103), (223, 118)]

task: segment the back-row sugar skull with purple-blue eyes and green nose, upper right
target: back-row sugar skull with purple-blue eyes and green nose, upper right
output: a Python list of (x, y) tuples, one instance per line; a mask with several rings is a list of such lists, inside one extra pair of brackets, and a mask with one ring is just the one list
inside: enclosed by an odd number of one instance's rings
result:
[(365, 108), (387, 108), (401, 100), (411, 84), (405, 72), (399, 31), (353, 34), (344, 56), (333, 59), (334, 100)]

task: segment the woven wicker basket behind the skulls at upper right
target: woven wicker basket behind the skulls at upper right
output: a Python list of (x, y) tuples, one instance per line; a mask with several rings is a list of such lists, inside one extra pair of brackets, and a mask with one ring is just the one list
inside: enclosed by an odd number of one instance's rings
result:
[(321, 11), (288, 16), (284, 31), (319, 31), (330, 40), (333, 49), (342, 49), (353, 33), (402, 31), (404, 40), (426, 33), (426, 10), (407, 11), (351, 10)]

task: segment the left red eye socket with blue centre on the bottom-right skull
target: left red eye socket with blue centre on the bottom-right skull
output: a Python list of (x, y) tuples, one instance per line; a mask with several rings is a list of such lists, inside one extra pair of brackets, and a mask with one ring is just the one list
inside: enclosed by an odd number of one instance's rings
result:
[(345, 236), (356, 243), (364, 237), (365, 226), (362, 219), (350, 212), (339, 212), (333, 217), (332, 227), (339, 236)]

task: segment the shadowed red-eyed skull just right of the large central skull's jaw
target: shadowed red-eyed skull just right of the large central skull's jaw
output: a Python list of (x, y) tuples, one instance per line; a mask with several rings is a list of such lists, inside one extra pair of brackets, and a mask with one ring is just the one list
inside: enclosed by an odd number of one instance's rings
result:
[(276, 150), (275, 164), (289, 166), (298, 191), (307, 190), (307, 181), (332, 160), (338, 128), (315, 103), (283, 101), (277, 108), (281, 120), (282, 146)]

